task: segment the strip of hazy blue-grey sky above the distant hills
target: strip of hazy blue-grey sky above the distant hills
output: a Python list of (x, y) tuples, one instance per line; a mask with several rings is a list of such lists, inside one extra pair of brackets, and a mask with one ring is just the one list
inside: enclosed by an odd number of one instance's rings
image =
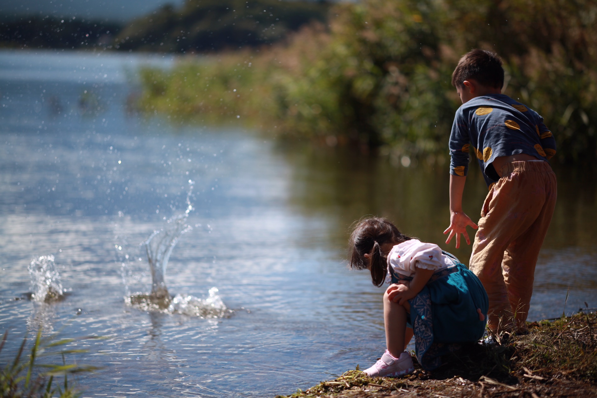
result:
[(0, 16), (23, 15), (79, 17), (128, 21), (162, 5), (178, 7), (184, 0), (0, 0)]

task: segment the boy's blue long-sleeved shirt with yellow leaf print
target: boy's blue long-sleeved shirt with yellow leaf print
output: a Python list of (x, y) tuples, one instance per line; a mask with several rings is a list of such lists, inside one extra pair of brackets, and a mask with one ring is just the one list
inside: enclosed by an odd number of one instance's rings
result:
[(498, 156), (526, 153), (547, 161), (556, 153), (543, 118), (505, 94), (475, 97), (458, 108), (450, 134), (450, 174), (467, 174), (470, 147), (487, 186), (500, 179), (491, 164)]

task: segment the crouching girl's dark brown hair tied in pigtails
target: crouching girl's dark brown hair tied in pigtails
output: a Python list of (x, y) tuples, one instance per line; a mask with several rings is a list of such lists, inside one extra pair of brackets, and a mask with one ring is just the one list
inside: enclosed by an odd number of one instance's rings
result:
[[(411, 237), (402, 235), (387, 218), (365, 218), (356, 224), (350, 234), (349, 266), (351, 269), (358, 270), (364, 270), (370, 266), (373, 284), (381, 286), (387, 273), (387, 254), (381, 252), (381, 245), (384, 243), (398, 245), (410, 239)], [(365, 254), (371, 257), (367, 259)]]

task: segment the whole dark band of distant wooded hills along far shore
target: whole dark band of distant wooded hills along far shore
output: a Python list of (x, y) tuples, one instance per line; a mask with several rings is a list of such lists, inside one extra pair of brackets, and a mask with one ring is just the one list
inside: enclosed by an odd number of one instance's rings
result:
[(325, 21), (328, 9), (323, 0), (187, 0), (125, 26), (77, 17), (19, 17), (0, 21), (0, 47), (205, 53), (272, 44), (310, 21)]

